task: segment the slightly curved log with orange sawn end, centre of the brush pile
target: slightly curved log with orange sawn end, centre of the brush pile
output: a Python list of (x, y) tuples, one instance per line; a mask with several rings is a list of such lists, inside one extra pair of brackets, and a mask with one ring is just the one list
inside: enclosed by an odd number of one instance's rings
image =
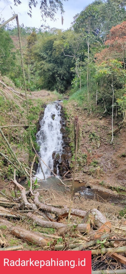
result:
[(63, 224), (58, 222), (43, 221), (42, 219), (38, 218), (37, 216), (33, 215), (30, 212), (27, 213), (27, 216), (28, 218), (34, 220), (39, 226), (58, 229), (57, 230), (58, 235), (64, 235), (64, 234), (67, 234), (68, 232), (70, 233), (71, 231), (75, 229), (79, 230), (80, 232), (86, 232), (90, 230), (89, 224), (78, 224), (78, 226), (74, 228), (75, 226), (74, 224), (69, 225), (69, 224)]

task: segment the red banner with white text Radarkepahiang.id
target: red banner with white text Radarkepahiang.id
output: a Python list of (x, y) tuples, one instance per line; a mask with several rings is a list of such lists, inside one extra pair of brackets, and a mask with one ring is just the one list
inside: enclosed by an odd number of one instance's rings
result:
[(91, 274), (91, 251), (0, 252), (1, 273)]

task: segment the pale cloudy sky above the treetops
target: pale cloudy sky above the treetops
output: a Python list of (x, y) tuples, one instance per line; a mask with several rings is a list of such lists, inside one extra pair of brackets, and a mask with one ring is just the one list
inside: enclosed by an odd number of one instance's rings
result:
[[(21, 5), (18, 5), (15, 7), (13, 5), (13, 0), (0, 0), (0, 18), (3, 17), (5, 20), (12, 17), (13, 13), (17, 13), (19, 16), (19, 24), (22, 23), (24, 26), (27, 27), (36, 27), (39, 28), (44, 22), (41, 21), (41, 14), (40, 14), (40, 5), (38, 4), (36, 8), (32, 7), (32, 18), (30, 18), (27, 14), (28, 12), (28, 0), (20, 0), (22, 2)], [(40, 1), (37, 1), (38, 3)], [(73, 21), (73, 16), (75, 16), (77, 13), (80, 13), (83, 8), (93, 2), (93, 0), (68, 0), (67, 2), (64, 2), (64, 10), (65, 13), (63, 15), (64, 17), (64, 24), (62, 26), (61, 24), (61, 12), (58, 11), (56, 14), (56, 22), (51, 21), (50, 19), (47, 19), (46, 25), (49, 25), (50, 27), (56, 27), (56, 28), (62, 28), (66, 30), (70, 27), (71, 22)], [(11, 10), (10, 6), (13, 8)], [(44, 23), (45, 24), (45, 23)], [(12, 25), (16, 25), (16, 21), (13, 20)]]

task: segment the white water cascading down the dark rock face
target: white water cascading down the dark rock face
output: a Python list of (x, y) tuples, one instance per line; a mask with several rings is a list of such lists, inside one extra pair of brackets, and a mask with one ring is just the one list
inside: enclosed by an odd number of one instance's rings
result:
[[(44, 111), (44, 117), (40, 122), (41, 128), (37, 133), (37, 144), (40, 146), (40, 157), (46, 165), (53, 170), (52, 154), (62, 154), (62, 133), (61, 129), (61, 105), (48, 104)], [(50, 170), (41, 161), (43, 172), (47, 178), (50, 175)], [(44, 179), (41, 167), (38, 165), (36, 176), (42, 180)]]

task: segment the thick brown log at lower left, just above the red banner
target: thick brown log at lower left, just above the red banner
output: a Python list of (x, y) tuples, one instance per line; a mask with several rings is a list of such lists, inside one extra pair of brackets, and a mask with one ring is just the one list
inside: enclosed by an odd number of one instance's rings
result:
[(41, 233), (31, 232), (23, 229), (22, 227), (15, 226), (11, 222), (0, 218), (0, 226), (6, 226), (7, 230), (14, 236), (23, 239), (24, 241), (31, 242), (34, 245), (43, 247), (47, 244), (47, 239), (41, 237)]

